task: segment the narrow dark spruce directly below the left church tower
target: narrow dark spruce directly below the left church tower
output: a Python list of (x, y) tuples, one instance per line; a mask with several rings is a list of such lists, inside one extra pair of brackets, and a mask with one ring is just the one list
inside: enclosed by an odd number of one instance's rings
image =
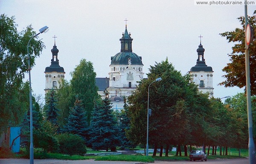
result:
[(45, 111), (46, 111), (46, 119), (51, 122), (54, 126), (58, 127), (57, 117), (59, 109), (56, 108), (56, 98), (55, 98), (55, 90), (50, 90), (46, 96), (46, 104), (45, 104)]

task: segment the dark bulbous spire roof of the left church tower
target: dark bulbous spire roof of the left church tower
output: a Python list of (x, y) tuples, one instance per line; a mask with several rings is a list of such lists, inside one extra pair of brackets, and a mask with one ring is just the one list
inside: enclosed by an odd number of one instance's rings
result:
[[(52, 60), (51, 65), (47, 68), (45, 68), (44, 72), (64, 72), (64, 68), (59, 65), (58, 60), (58, 49), (57, 46), (53, 45), (53, 48), (51, 50), (52, 52)], [(64, 72), (65, 73), (65, 72)]]

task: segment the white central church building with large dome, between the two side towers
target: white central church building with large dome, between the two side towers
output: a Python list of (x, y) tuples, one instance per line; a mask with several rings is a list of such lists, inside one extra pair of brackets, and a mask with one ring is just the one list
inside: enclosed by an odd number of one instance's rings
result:
[(120, 39), (121, 51), (111, 57), (109, 77), (96, 78), (99, 95), (105, 98), (107, 92), (114, 109), (123, 107), (123, 96), (130, 96), (137, 88), (137, 81), (143, 79), (142, 57), (132, 51), (132, 40), (125, 25), (125, 32)]

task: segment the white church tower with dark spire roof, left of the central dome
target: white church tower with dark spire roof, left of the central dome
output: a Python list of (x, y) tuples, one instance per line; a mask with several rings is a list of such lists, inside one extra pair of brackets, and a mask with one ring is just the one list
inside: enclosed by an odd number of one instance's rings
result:
[(52, 48), (52, 59), (51, 59), (51, 65), (49, 67), (45, 68), (45, 94), (51, 90), (51, 89), (58, 89), (60, 87), (60, 81), (61, 79), (64, 79), (64, 68), (59, 65), (58, 60), (58, 49), (57, 46), (54, 45)]

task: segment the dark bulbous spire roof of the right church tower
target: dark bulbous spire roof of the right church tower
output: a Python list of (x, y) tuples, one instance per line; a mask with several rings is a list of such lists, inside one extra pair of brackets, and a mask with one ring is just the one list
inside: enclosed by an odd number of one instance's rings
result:
[(193, 72), (199, 72), (199, 71), (206, 71), (206, 72), (213, 72), (212, 67), (209, 67), (205, 64), (205, 59), (204, 59), (204, 48), (203, 45), (198, 45), (198, 49), (196, 50), (198, 52), (198, 59), (196, 62), (196, 65), (190, 69), (190, 71)]

